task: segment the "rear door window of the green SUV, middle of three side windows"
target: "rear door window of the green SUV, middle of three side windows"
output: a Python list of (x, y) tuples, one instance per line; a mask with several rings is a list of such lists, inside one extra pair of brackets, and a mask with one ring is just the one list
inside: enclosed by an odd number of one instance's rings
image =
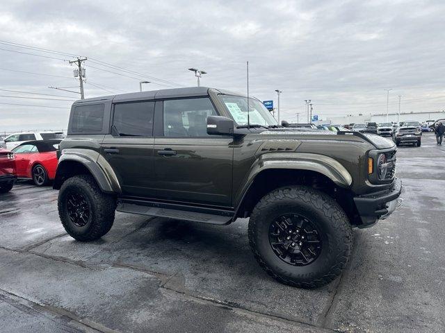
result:
[(111, 133), (120, 137), (152, 137), (154, 102), (114, 105)]

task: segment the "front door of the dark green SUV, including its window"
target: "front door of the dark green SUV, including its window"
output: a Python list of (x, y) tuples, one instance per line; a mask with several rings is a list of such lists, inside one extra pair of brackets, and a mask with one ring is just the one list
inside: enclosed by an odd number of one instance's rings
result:
[(207, 135), (212, 114), (216, 110), (207, 97), (163, 101), (154, 142), (158, 198), (232, 206), (233, 137)]

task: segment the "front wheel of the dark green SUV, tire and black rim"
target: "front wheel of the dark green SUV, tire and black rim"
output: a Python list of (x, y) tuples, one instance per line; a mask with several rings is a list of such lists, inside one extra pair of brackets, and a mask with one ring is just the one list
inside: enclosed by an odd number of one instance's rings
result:
[(320, 287), (337, 278), (353, 246), (345, 212), (310, 187), (282, 187), (264, 196), (250, 216), (248, 233), (260, 266), (294, 287)]

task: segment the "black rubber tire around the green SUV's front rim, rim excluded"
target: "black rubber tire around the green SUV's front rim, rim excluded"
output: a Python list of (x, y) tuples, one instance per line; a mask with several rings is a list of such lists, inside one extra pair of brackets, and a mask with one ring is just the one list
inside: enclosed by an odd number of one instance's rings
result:
[[(324, 237), (321, 254), (307, 266), (293, 266), (273, 251), (270, 223), (281, 214), (306, 216)], [(249, 243), (259, 265), (273, 278), (293, 287), (321, 287), (337, 278), (346, 267), (353, 247), (348, 216), (327, 194), (304, 186), (282, 187), (266, 194), (254, 207), (249, 221)]]

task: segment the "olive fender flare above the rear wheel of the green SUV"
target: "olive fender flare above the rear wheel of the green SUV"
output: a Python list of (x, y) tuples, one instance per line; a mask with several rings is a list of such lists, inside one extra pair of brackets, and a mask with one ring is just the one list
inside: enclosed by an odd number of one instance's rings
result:
[[(82, 149), (76, 149), (76, 152), (64, 153), (60, 156), (54, 178), (54, 189), (60, 189), (63, 182), (68, 178), (81, 174), (90, 174), (99, 185), (99, 188), (105, 193), (121, 193), (118, 178), (113, 169), (103, 158), (100, 159), (99, 153), (88, 152), (82, 154)], [(108, 164), (104, 167), (99, 163)]]

